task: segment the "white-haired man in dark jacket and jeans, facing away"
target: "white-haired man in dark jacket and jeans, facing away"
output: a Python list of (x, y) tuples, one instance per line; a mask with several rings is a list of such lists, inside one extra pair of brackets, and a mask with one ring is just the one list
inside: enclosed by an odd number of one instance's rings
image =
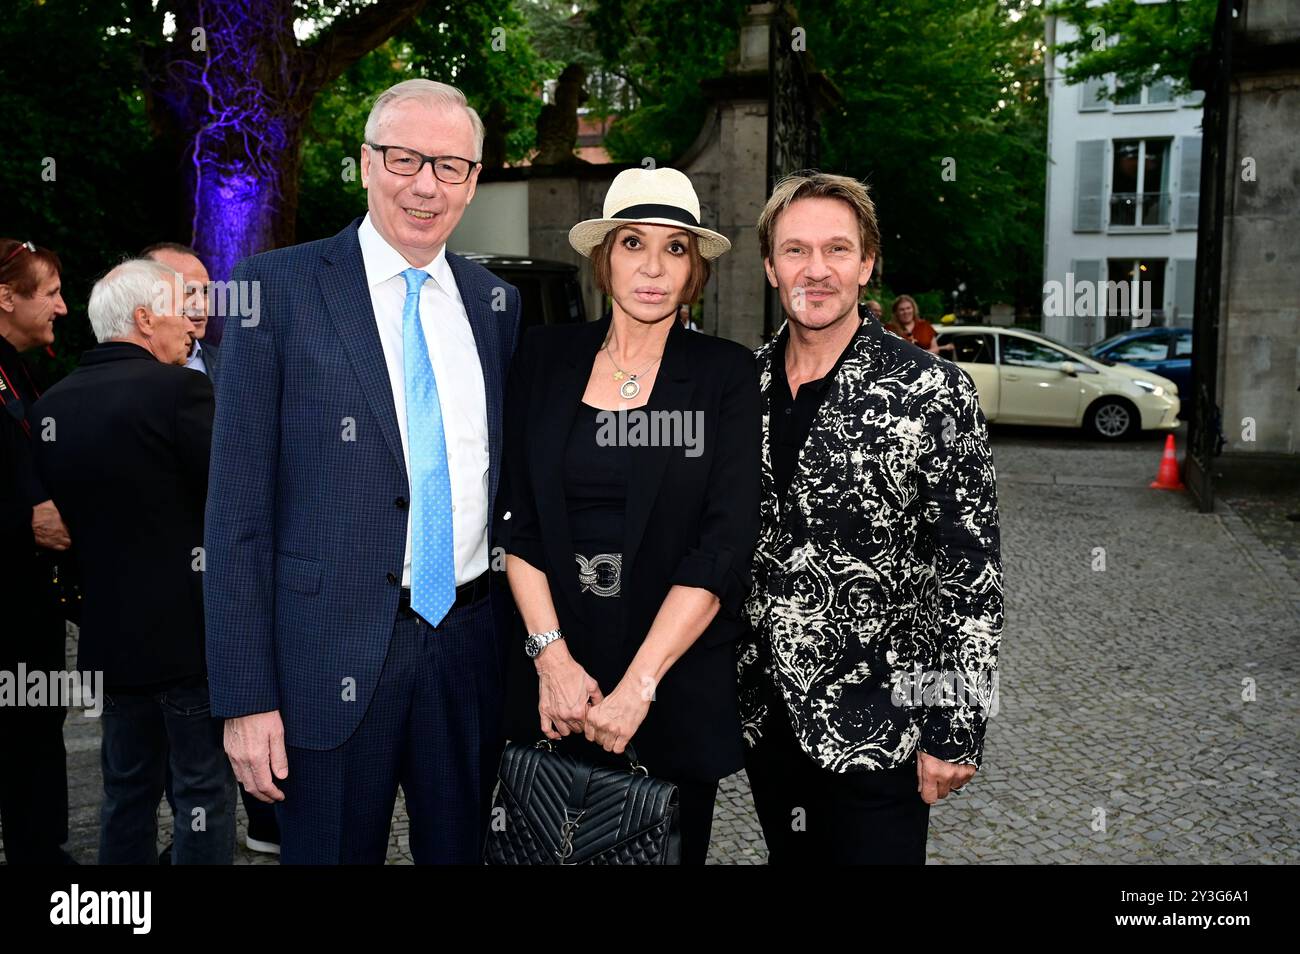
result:
[(168, 764), (173, 863), (234, 855), (234, 779), (203, 652), (212, 385), (185, 368), (195, 329), (176, 285), (170, 268), (138, 259), (96, 282), (99, 346), (29, 417), (42, 483), (77, 543), (77, 664), (103, 685), (100, 864), (157, 862)]

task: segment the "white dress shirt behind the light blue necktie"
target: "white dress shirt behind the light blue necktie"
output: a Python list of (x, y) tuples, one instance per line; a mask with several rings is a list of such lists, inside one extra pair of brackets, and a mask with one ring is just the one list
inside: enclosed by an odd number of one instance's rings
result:
[[(358, 239), (361, 243), (361, 261), (365, 265), (365, 282), (370, 289), (380, 343), (384, 346), (384, 360), (393, 385), (393, 406), (398, 413), (402, 456), (406, 459), (410, 481), (411, 435), (407, 434), (402, 346), (406, 279), (402, 273), (412, 265), (380, 235), (369, 214), (361, 221)], [(429, 281), (420, 289), (420, 325), (424, 328), (424, 341), (438, 380), (438, 402), (442, 407), (442, 429), (451, 471), (451, 532), (459, 586), (476, 580), (488, 569), (488, 398), (474, 334), (451, 265), (447, 264), (446, 246), (438, 250), (433, 261), (416, 268), (429, 273)], [(416, 439), (421, 439), (421, 435), (416, 434)], [(424, 435), (422, 439), (428, 437)], [(410, 511), (402, 585), (411, 585)]]

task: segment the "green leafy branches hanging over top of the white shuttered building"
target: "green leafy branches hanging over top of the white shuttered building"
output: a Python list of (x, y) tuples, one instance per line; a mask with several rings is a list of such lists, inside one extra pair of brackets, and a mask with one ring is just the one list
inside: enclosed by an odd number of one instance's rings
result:
[(1065, 75), (1071, 83), (1114, 73), (1119, 86), (1149, 86), (1169, 78), (1175, 95), (1191, 91), (1192, 61), (1208, 52), (1218, 0), (1170, 0), (1140, 4), (1109, 0), (1061, 0), (1052, 6), (1079, 30), (1079, 39), (1058, 43), (1054, 52), (1070, 57)]

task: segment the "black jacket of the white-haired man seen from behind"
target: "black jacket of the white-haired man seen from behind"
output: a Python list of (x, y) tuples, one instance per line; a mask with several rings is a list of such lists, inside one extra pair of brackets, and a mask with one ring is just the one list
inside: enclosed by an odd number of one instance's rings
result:
[[(81, 571), (78, 668), (101, 669), (117, 690), (203, 675), (207, 376), (109, 342), (46, 391), (30, 420), (36, 469)], [(52, 441), (38, 437), (47, 425)]]

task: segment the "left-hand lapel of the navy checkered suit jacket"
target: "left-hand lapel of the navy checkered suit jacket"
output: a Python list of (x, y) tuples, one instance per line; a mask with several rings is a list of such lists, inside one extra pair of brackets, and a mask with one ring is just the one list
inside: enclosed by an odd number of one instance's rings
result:
[(356, 220), (330, 239), (321, 256), (325, 268), (320, 270), (318, 281), (325, 298), (325, 309), (343, 341), (367, 403), (380, 421), (384, 441), (400, 471), (406, 473), (402, 434), (398, 430), (398, 413), (393, 403), (393, 382), (389, 380), (380, 328), (370, 304), (370, 287), (365, 281), (365, 265), (361, 261), (361, 243), (356, 238), (356, 226), (360, 221)]

